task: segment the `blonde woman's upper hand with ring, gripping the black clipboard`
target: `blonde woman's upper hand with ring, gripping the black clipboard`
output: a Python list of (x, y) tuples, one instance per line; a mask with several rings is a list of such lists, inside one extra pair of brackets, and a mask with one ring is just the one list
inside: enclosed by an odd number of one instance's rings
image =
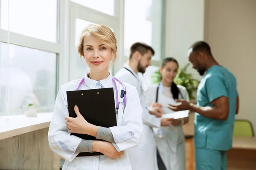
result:
[(98, 127), (88, 123), (79, 112), (77, 106), (75, 106), (74, 110), (76, 112), (76, 118), (65, 116), (65, 124), (68, 132), (87, 134), (96, 137)]

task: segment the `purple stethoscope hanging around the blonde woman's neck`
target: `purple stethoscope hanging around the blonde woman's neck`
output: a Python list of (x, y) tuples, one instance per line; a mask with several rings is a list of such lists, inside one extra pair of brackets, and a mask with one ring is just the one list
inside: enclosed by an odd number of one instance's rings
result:
[[(124, 105), (123, 112), (124, 112), (124, 109), (125, 109), (125, 105), (126, 105), (126, 87), (125, 87), (124, 83), (122, 83), (119, 79), (116, 79), (115, 77), (112, 78), (112, 81), (114, 83), (115, 91), (116, 91), (116, 116), (117, 116), (120, 103), (122, 103)], [(122, 97), (124, 98), (123, 102), (119, 102), (119, 99), (118, 99), (118, 89), (117, 89), (117, 86), (116, 86), (116, 81), (119, 82), (123, 86), (123, 88), (124, 88), (124, 90), (121, 91), (121, 98)], [(84, 77), (79, 82), (79, 85), (77, 86), (76, 91), (79, 90), (79, 88), (80, 88), (80, 86), (81, 86), (81, 84), (83, 82), (84, 82)]]

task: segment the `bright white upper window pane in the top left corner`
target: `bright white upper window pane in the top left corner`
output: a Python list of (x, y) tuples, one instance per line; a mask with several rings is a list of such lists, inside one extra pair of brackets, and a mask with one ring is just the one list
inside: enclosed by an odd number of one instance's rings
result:
[(18, 34), (56, 42), (57, 0), (1, 0), (1, 29), (8, 28)]

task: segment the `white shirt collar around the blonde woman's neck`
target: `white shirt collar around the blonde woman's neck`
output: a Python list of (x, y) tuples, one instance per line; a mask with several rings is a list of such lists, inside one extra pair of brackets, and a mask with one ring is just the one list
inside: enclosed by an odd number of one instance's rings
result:
[(85, 74), (85, 76), (84, 76), (84, 83), (85, 83), (89, 88), (91, 88), (91, 89), (96, 88), (97, 82), (100, 82), (101, 85), (102, 85), (104, 88), (111, 87), (113, 76), (112, 76), (112, 74), (111, 74), (110, 71), (108, 71), (109, 76), (108, 76), (106, 79), (102, 79), (102, 80), (99, 80), (99, 81), (90, 79), (90, 78), (88, 77), (89, 73), (90, 73), (90, 71), (88, 71), (88, 72)]

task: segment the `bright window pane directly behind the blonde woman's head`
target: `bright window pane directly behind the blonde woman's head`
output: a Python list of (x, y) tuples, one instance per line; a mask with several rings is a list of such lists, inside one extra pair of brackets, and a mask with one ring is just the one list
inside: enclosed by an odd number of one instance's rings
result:
[[(79, 45), (79, 40), (80, 40), (80, 36), (81, 36), (81, 33), (82, 31), (84, 30), (84, 28), (90, 24), (94, 24), (94, 25), (99, 25), (99, 24), (96, 24), (96, 23), (92, 23), (90, 21), (86, 21), (86, 20), (81, 20), (79, 18), (76, 18), (76, 38), (75, 38), (75, 42), (76, 42), (76, 49)], [(113, 32), (114, 32), (114, 29), (113, 28), (110, 28)], [(76, 68), (76, 71), (75, 72), (75, 78), (76, 79), (80, 79), (81, 77), (84, 76), (84, 74), (89, 71), (89, 68), (86, 64), (86, 61), (83, 57), (80, 57), (80, 55), (78, 54), (78, 52), (76, 51), (76, 63), (75, 63), (75, 67)]]

